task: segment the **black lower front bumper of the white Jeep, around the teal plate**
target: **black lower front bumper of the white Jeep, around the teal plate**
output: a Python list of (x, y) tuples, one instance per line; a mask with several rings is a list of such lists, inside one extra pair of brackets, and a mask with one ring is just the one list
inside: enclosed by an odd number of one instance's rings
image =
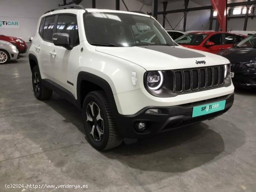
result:
[[(226, 100), (225, 109), (219, 112), (202, 115), (192, 118), (194, 106), (205, 105), (217, 101)], [(213, 119), (229, 110), (234, 102), (234, 93), (229, 95), (216, 97), (213, 99), (202, 100), (194, 103), (168, 106), (168, 107), (146, 107), (134, 115), (117, 115), (115, 117), (116, 126), (119, 134), (124, 138), (140, 139), (159, 132), (164, 132), (187, 126), (207, 119)], [(150, 108), (158, 108), (162, 111), (161, 114), (146, 114)], [(135, 124), (138, 122), (146, 122), (146, 129), (143, 132), (135, 130)]]

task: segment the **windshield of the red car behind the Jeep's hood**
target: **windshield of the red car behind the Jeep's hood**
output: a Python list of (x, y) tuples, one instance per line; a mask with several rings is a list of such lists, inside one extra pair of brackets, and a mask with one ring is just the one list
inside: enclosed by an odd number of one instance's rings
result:
[(202, 41), (207, 37), (206, 34), (195, 34), (195, 33), (188, 33), (182, 35), (178, 39), (175, 40), (176, 43), (182, 45), (191, 45), (191, 46), (198, 46), (202, 43)]

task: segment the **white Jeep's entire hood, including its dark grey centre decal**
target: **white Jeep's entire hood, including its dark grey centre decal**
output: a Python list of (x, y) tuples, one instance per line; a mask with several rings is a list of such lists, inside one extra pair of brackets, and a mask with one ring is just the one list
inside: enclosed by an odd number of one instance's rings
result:
[(218, 55), (188, 49), (182, 46), (97, 46), (96, 51), (128, 60), (148, 71), (213, 66), (229, 63), (229, 60)]

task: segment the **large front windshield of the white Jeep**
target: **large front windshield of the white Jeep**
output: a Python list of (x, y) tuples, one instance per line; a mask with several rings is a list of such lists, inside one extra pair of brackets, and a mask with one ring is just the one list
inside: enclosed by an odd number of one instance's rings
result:
[(88, 42), (97, 46), (176, 46), (154, 19), (129, 13), (86, 13)]

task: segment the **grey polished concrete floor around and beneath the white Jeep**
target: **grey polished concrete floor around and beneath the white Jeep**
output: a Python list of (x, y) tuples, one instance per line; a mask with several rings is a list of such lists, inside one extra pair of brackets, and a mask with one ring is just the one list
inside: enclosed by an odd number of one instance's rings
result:
[(216, 119), (98, 152), (79, 110), (56, 94), (34, 98), (24, 54), (0, 65), (0, 192), (256, 192), (256, 91), (235, 97)]

